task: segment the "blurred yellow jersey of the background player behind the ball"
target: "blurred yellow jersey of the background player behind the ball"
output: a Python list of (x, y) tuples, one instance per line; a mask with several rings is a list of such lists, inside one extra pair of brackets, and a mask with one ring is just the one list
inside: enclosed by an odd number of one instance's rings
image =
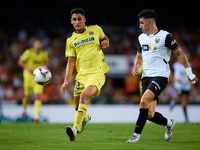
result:
[[(34, 48), (29, 48), (20, 56), (20, 60), (25, 62), (34, 71), (37, 67), (43, 66), (49, 60), (49, 57), (48, 53), (44, 50), (36, 53)], [(33, 75), (26, 69), (23, 70), (23, 76), (25, 78), (33, 78)]]

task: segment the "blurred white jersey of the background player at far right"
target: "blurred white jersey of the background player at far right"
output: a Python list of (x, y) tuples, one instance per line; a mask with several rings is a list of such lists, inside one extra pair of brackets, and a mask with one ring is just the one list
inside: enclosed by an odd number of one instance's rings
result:
[(185, 71), (185, 67), (179, 63), (175, 62), (173, 64), (173, 70), (174, 70), (174, 87), (178, 91), (189, 91), (191, 88), (190, 81), (187, 78), (187, 74)]

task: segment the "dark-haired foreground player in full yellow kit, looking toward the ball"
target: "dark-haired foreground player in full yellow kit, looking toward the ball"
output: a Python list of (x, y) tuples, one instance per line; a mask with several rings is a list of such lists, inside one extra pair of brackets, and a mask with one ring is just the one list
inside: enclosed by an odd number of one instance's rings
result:
[(87, 103), (92, 97), (99, 95), (101, 87), (105, 83), (104, 73), (109, 68), (105, 63), (102, 49), (109, 46), (109, 39), (98, 25), (85, 25), (86, 18), (83, 9), (73, 9), (70, 16), (75, 32), (66, 42), (65, 55), (68, 57), (68, 63), (60, 93), (61, 95), (65, 94), (68, 81), (76, 66), (77, 75), (74, 88), (76, 115), (73, 128), (66, 128), (70, 141), (74, 141), (76, 133), (81, 133), (91, 119), (87, 115)]

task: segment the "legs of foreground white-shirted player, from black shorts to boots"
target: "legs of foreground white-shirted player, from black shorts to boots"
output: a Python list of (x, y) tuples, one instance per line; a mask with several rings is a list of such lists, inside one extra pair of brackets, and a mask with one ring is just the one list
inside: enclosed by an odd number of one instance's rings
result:
[[(175, 125), (175, 120), (167, 120), (160, 113), (155, 113), (155, 108), (157, 104), (158, 96), (165, 89), (168, 83), (167, 78), (155, 77), (153, 79), (146, 78), (142, 85), (143, 96), (140, 101), (140, 114), (136, 123), (135, 133), (128, 143), (136, 143), (139, 141), (140, 134), (146, 123), (147, 118), (152, 119), (158, 124), (167, 124), (167, 131), (165, 133), (165, 140), (168, 141), (172, 136), (173, 127)], [(148, 84), (148, 86), (145, 85)], [(144, 87), (144, 88), (143, 88)], [(146, 90), (147, 89), (147, 90)], [(154, 101), (155, 100), (155, 101)], [(169, 123), (169, 124), (168, 124)]]

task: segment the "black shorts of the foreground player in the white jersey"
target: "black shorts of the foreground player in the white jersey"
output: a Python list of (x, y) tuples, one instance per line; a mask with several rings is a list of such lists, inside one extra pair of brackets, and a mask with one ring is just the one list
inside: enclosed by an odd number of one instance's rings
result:
[(149, 89), (154, 94), (154, 100), (158, 100), (158, 96), (166, 88), (168, 84), (168, 78), (166, 77), (144, 77), (142, 78), (142, 95)]

